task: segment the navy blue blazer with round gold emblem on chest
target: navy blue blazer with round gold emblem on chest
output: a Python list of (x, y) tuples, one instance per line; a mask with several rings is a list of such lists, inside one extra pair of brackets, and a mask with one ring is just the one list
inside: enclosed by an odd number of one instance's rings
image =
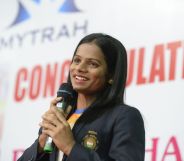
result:
[[(91, 121), (79, 119), (72, 131), (76, 144), (63, 161), (144, 161), (144, 122), (134, 107), (116, 105)], [(18, 161), (57, 161), (56, 147), (51, 154), (38, 154), (37, 148), (38, 139)]]

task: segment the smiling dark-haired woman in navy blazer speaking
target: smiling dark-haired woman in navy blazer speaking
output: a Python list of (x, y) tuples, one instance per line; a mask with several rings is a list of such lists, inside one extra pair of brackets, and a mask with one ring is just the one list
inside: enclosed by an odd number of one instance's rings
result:
[[(68, 78), (73, 110), (67, 117), (56, 107), (62, 98), (54, 99), (38, 139), (18, 161), (144, 161), (144, 123), (140, 112), (124, 103), (126, 77), (127, 53), (120, 41), (101, 33), (84, 37)], [(47, 136), (55, 144), (50, 154), (43, 151)]]

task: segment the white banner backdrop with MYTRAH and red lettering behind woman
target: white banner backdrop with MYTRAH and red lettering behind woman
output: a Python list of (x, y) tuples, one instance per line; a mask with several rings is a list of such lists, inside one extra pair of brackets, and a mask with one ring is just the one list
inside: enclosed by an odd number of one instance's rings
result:
[(184, 160), (184, 1), (0, 0), (0, 161), (38, 137), (41, 115), (92, 32), (128, 52), (126, 103), (146, 129), (145, 161)]

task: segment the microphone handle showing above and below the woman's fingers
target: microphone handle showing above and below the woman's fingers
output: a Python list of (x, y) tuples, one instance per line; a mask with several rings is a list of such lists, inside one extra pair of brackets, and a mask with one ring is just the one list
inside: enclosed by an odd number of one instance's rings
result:
[[(67, 107), (67, 102), (65, 102), (65, 101), (58, 102), (56, 104), (56, 107), (57, 107), (58, 110), (65, 111), (65, 109)], [(53, 149), (54, 149), (54, 143), (52, 141), (52, 138), (50, 136), (48, 136), (47, 139), (46, 139), (46, 142), (45, 142), (45, 146), (43, 148), (43, 151), (45, 153), (52, 153), (53, 152)]]

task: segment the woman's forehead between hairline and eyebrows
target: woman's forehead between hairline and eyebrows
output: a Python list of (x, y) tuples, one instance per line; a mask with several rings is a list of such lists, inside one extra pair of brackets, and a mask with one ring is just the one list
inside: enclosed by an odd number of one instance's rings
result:
[(76, 55), (86, 59), (105, 61), (102, 50), (94, 43), (81, 44), (76, 51)]

